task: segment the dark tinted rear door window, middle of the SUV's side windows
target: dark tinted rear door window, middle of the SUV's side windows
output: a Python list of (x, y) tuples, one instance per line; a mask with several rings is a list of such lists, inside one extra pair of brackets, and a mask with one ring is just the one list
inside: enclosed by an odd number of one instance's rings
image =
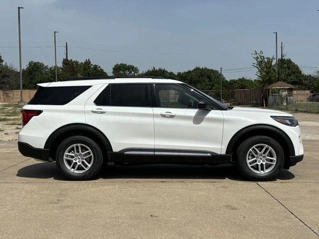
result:
[(149, 101), (147, 84), (111, 84), (95, 99), (97, 106), (147, 107)]

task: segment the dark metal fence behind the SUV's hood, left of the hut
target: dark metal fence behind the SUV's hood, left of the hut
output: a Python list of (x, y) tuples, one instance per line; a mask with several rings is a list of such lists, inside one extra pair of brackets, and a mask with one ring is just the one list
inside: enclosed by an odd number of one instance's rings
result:
[(227, 106), (261, 107), (264, 90), (202, 91)]

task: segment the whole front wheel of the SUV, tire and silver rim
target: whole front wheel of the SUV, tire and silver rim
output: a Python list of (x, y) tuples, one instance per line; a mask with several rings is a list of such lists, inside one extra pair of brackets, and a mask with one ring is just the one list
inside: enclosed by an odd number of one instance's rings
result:
[[(264, 149), (265, 145), (268, 147)], [(262, 152), (263, 149), (264, 152)], [(237, 167), (249, 180), (266, 181), (274, 178), (283, 168), (284, 161), (283, 148), (276, 140), (268, 136), (248, 138), (237, 149)]]

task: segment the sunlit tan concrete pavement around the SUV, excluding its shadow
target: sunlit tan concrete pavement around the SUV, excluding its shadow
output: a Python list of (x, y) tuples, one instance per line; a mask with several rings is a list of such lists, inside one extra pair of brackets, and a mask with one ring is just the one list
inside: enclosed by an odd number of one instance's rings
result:
[(271, 182), (233, 166), (109, 167), (70, 182), (0, 142), (0, 238), (319, 238), (319, 141)]

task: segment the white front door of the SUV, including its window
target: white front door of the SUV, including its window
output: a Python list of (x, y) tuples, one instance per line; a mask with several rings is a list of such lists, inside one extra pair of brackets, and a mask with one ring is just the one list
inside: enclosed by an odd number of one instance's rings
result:
[[(152, 84), (155, 152), (160, 150), (221, 153), (223, 114), (199, 110), (201, 97), (179, 84)], [(179, 151), (180, 152), (180, 151)]]

